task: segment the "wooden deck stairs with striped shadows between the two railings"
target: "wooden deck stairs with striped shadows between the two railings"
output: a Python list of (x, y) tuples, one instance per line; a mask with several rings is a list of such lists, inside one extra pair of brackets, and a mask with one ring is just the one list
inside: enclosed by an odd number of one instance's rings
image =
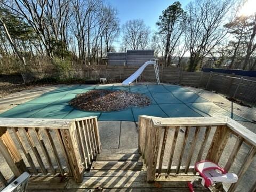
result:
[[(68, 186), (88, 191), (188, 191), (187, 182), (193, 177), (163, 175), (150, 183), (138, 149), (103, 149), (84, 173), (83, 182)], [(195, 191), (209, 191), (199, 183), (195, 187)]]

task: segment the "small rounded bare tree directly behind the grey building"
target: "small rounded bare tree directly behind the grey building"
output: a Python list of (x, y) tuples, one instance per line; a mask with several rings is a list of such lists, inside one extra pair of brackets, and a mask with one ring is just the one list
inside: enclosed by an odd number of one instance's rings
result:
[(123, 25), (123, 42), (132, 50), (145, 49), (149, 42), (149, 27), (143, 20), (127, 21)]

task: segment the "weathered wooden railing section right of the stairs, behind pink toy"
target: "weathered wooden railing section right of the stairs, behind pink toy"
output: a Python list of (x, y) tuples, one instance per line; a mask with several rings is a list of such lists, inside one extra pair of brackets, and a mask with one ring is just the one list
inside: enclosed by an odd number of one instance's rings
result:
[[(227, 144), (229, 139), (232, 141), (230, 145)], [(222, 163), (229, 171), (242, 145), (248, 148), (247, 155), (241, 167), (237, 167), (238, 182), (231, 184), (228, 191), (234, 191), (245, 172), (249, 171), (247, 169), (256, 155), (255, 133), (229, 117), (139, 116), (139, 151), (147, 167), (148, 181), (154, 181), (160, 174), (196, 174), (194, 164), (202, 159)], [(229, 151), (228, 155), (223, 153), (225, 149)], [(163, 166), (164, 156), (167, 166)], [(255, 177), (255, 170), (253, 173), (251, 179)], [(250, 184), (249, 191), (255, 191), (256, 183)], [(215, 187), (224, 190), (221, 185)]]

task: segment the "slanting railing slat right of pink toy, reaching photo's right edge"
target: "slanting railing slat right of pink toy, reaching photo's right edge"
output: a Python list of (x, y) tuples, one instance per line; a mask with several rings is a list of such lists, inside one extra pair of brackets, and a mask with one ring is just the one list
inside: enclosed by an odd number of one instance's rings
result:
[(238, 181), (236, 183), (232, 183), (231, 186), (229, 187), (228, 191), (229, 192), (233, 192), (235, 191), (239, 181), (241, 180), (241, 178), (243, 177), (244, 173), (246, 172), (246, 170), (248, 169), (248, 167), (250, 166), (250, 164), (253, 161), (253, 157), (256, 155), (256, 147), (253, 146), (251, 147), (251, 149), (249, 150), (249, 153), (247, 154), (247, 156), (244, 159), (244, 162), (242, 164), (241, 169), (238, 171), (237, 177), (238, 177)]

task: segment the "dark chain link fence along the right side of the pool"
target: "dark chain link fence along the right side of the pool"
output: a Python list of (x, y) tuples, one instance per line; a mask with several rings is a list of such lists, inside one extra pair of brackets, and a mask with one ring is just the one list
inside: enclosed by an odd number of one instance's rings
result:
[(245, 105), (256, 106), (256, 81), (243, 77), (201, 73), (199, 86), (227, 95), (231, 99), (243, 101)]

